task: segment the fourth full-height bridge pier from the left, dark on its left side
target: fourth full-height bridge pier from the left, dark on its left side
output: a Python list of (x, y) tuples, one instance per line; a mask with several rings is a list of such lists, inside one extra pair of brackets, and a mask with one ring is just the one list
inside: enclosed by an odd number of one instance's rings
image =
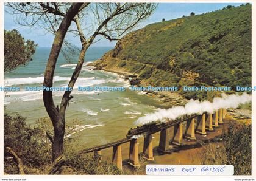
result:
[(171, 153), (171, 150), (169, 149), (169, 129), (168, 128), (160, 131), (160, 140), (159, 140), (159, 146), (157, 150), (163, 154)]

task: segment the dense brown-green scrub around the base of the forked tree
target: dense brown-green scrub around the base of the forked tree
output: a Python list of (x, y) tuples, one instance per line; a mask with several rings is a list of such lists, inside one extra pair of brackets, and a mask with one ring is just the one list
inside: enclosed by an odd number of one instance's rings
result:
[[(75, 120), (74, 120), (75, 121)], [(70, 134), (71, 126), (67, 126), (66, 135)], [(10, 116), (4, 114), (4, 172), (19, 174), (18, 164), (12, 154), (7, 152), (11, 148), (23, 162), (25, 174), (48, 174), (51, 168), (51, 142), (46, 131), (52, 135), (53, 129), (49, 118), (41, 118), (32, 128), (27, 125), (26, 118), (19, 114)], [(72, 144), (73, 138), (65, 139), (66, 162), (57, 174), (123, 174), (116, 165), (99, 161), (101, 157), (80, 155)]]

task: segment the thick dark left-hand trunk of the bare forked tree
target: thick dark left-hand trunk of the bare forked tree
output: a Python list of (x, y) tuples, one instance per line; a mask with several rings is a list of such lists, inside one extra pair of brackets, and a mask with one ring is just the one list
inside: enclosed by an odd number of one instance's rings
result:
[[(46, 70), (44, 72), (44, 82), (45, 87), (52, 87), (54, 70), (57, 62), (57, 58), (62, 47), (63, 40), (65, 38), (68, 27), (74, 16), (79, 12), (80, 7), (83, 3), (73, 3), (66, 13), (65, 17), (60, 24), (59, 29), (55, 33), (54, 42), (52, 44), (52, 49), (48, 58), (48, 63), (46, 65)], [(43, 101), (44, 107), (51, 118), (52, 125), (54, 127), (54, 138), (52, 139), (52, 162), (54, 162), (57, 157), (63, 154), (63, 139), (65, 132), (65, 112), (60, 112), (58, 106), (55, 106), (52, 91), (43, 91)]]

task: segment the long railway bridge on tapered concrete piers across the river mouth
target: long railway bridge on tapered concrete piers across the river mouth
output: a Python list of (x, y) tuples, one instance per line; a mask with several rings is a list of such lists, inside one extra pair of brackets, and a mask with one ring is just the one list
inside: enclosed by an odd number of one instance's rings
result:
[[(213, 114), (204, 112), (203, 114), (184, 115), (182, 118), (169, 120), (165, 123), (147, 123), (145, 125), (138, 126), (137, 128), (130, 129), (126, 135), (126, 138), (107, 143), (105, 145), (84, 149), (80, 152), (80, 154), (94, 152), (94, 155), (101, 155), (102, 149), (113, 147), (112, 162), (116, 164), (119, 169), (122, 169), (123, 160), (121, 145), (123, 143), (130, 142), (128, 163), (134, 167), (140, 166), (137, 140), (141, 136), (144, 137), (144, 159), (152, 161), (154, 160), (152, 134), (160, 132), (160, 140), (157, 148), (158, 152), (163, 154), (170, 153), (170, 141), (172, 144), (180, 146), (182, 145), (183, 138), (196, 140), (195, 134), (206, 135), (207, 131), (214, 131), (214, 128), (218, 128), (219, 125), (223, 124), (226, 114), (227, 110), (225, 108), (221, 108), (218, 111), (215, 111)], [(185, 132), (183, 132), (183, 122), (186, 122)], [(170, 128), (174, 129), (173, 135), (169, 135)]]

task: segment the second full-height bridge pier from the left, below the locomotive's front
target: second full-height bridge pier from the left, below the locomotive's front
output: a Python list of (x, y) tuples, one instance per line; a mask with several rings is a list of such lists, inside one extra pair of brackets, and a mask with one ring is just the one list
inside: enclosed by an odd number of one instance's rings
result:
[(138, 157), (138, 142), (137, 139), (130, 140), (130, 149), (129, 149), (129, 161), (128, 163), (134, 167), (140, 166), (139, 157)]

